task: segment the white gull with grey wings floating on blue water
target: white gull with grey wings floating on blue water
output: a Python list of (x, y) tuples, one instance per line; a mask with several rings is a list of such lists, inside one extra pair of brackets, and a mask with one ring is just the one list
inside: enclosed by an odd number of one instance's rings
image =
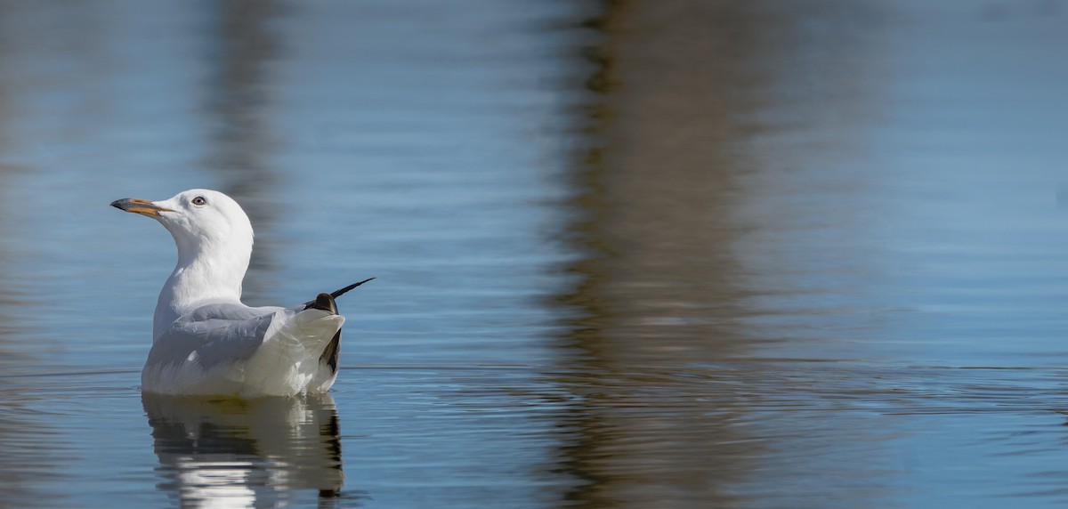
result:
[(249, 307), (241, 303), (241, 281), (252, 224), (233, 198), (192, 189), (111, 206), (159, 221), (178, 248), (156, 302), (142, 391), (257, 397), (325, 393), (333, 385), (345, 322), (334, 298), (371, 280), (297, 306)]

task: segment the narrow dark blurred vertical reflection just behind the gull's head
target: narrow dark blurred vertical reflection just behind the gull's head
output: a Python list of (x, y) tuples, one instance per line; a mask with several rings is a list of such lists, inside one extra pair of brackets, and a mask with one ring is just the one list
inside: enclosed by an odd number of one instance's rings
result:
[[(252, 220), (257, 240), (269, 239), (277, 213), (272, 204), (278, 175), (271, 156), (279, 140), (272, 133), (271, 77), (280, 42), (270, 23), (281, 12), (274, 1), (218, 0), (208, 67), (205, 109), (211, 121), (205, 166), (221, 179), (220, 191), (236, 200)], [(257, 241), (252, 252), (245, 296), (264, 298), (273, 272), (270, 241)]]

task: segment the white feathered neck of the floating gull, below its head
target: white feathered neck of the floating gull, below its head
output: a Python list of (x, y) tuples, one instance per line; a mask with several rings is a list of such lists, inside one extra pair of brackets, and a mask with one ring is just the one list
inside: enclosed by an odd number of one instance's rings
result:
[(240, 302), (241, 281), (252, 255), (233, 244), (178, 244), (178, 263), (156, 302), (153, 338), (158, 339), (178, 317), (213, 302)]

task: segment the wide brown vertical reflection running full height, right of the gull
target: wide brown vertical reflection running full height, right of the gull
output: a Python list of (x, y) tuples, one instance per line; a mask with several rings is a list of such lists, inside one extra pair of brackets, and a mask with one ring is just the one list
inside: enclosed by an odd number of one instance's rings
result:
[(745, 325), (756, 290), (737, 244), (775, 225), (737, 210), (758, 192), (754, 118), (788, 81), (774, 76), (788, 5), (612, 1), (587, 22), (598, 146), (575, 169), (568, 234), (586, 256), (561, 298), (577, 314), (560, 380), (577, 401), (562, 452), (585, 481), (567, 495), (579, 507), (744, 505), (736, 487), (765, 466), (748, 403), (767, 373), (721, 363), (764, 339)]

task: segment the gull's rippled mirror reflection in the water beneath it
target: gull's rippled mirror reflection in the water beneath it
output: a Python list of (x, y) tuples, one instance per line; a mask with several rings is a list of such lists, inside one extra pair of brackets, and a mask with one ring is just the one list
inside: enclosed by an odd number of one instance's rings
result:
[(162, 478), (182, 507), (274, 507), (344, 484), (330, 395), (297, 398), (141, 396)]

